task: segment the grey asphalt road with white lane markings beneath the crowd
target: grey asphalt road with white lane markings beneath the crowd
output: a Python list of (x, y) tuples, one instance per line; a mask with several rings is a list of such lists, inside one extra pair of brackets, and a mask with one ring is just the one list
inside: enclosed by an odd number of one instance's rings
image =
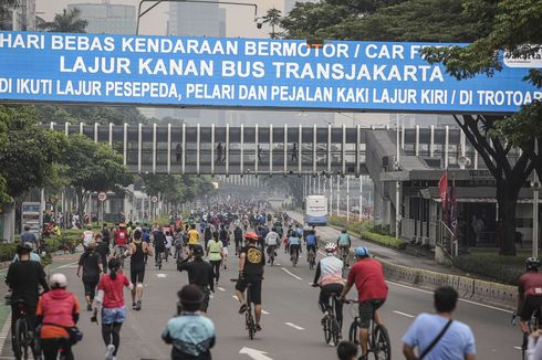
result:
[[(304, 258), (298, 267), (292, 267), (283, 251), (279, 253), (278, 264), (265, 267), (263, 331), (257, 333), (254, 340), (250, 340), (244, 330), (243, 317), (238, 315), (239, 305), (233, 298), (233, 283), (229, 280), (237, 276), (237, 260), (231, 256), (230, 248), (228, 269), (222, 271), (209, 309), (209, 316), (215, 321), (218, 332), (217, 346), (212, 350), (215, 359), (336, 359), (335, 349), (325, 345), (323, 340), (321, 314), (316, 305), (319, 290), (309, 285), (314, 276), (313, 271), (309, 269)], [(75, 276), (75, 265), (66, 264), (59, 271), (67, 275), (69, 288), (83, 304), (83, 284)], [(175, 313), (176, 292), (186, 283), (187, 275), (178, 273), (173, 263), (165, 263), (163, 269), (157, 271), (153, 261), (149, 261), (143, 309), (128, 310), (122, 330), (118, 359), (169, 358), (169, 347), (161, 341), (160, 333), (167, 319)], [(394, 283), (389, 283), (389, 289), (383, 316), (392, 338), (393, 358), (402, 359), (400, 338), (414, 316), (421, 311), (431, 311), (431, 294)], [(125, 296), (126, 303), (129, 304), (128, 290), (125, 292)], [(355, 289), (350, 295), (350, 298), (353, 297)], [(344, 309), (345, 335), (355, 311), (356, 308), (351, 306)], [(91, 324), (90, 317), (90, 313), (83, 310), (79, 326), (84, 332), (84, 339), (74, 348), (76, 359), (103, 359), (105, 354), (100, 327)], [(510, 326), (508, 311), (460, 301), (457, 318), (470, 325), (475, 332), (477, 359), (520, 358), (521, 352), (514, 349), (514, 346), (520, 343), (520, 332)], [(0, 353), (0, 359), (12, 359), (9, 340)]]

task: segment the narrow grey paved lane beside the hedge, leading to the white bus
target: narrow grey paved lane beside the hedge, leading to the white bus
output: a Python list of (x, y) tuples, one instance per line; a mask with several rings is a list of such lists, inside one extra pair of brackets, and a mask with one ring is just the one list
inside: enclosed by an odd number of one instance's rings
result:
[[(303, 224), (303, 214), (295, 212), (295, 211), (288, 211), (288, 214), (296, 222)], [(338, 237), (338, 234), (341, 231), (331, 227), (331, 226), (325, 226), (325, 227), (316, 227), (316, 234), (323, 240), (323, 241), (331, 241), (335, 242)], [(415, 256), (406, 251), (397, 251), (390, 247), (382, 246), (365, 240), (362, 240), (356, 236), (352, 236), (352, 246), (357, 247), (357, 246), (365, 246), (369, 250), (369, 252), (374, 255), (376, 255), (377, 258), (385, 260), (388, 263), (395, 264), (395, 265), (402, 265), (402, 266), (408, 266), (408, 267), (414, 267), (414, 268), (420, 268), (420, 269), (427, 269), (430, 272), (436, 272), (436, 273), (441, 273), (441, 274), (449, 274), (449, 275), (461, 275), (461, 276), (470, 276), (455, 267), (448, 267), (438, 264), (435, 260), (427, 258), (427, 257), (420, 257), (420, 256)]]

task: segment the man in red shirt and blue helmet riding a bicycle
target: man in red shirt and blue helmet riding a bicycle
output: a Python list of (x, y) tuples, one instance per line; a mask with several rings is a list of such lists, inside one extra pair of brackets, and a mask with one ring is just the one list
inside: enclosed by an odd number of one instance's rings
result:
[(350, 269), (348, 280), (341, 294), (341, 298), (344, 300), (352, 286), (356, 285), (357, 300), (359, 303), (359, 340), (362, 345), (359, 359), (367, 359), (369, 322), (374, 317), (377, 324), (382, 324), (378, 308), (386, 301), (388, 288), (384, 279), (382, 264), (369, 257), (367, 247), (356, 247), (355, 255), (357, 263)]

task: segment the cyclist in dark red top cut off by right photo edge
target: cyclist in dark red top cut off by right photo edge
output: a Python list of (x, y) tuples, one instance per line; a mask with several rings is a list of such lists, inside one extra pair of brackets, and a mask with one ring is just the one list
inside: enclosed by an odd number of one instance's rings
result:
[[(520, 315), (520, 329), (529, 335), (528, 321), (533, 313), (542, 306), (542, 273), (539, 273), (540, 261), (529, 257), (525, 261), (527, 271), (518, 282), (518, 314)], [(542, 324), (542, 314), (538, 311), (539, 324)]]

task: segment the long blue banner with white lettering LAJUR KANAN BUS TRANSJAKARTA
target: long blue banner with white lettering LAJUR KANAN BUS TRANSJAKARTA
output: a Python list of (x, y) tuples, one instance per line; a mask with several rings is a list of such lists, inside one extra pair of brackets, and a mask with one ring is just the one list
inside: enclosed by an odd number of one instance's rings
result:
[(457, 81), (421, 59), (434, 45), (450, 44), (0, 32), (0, 100), (504, 114), (542, 99), (523, 81), (536, 56)]

